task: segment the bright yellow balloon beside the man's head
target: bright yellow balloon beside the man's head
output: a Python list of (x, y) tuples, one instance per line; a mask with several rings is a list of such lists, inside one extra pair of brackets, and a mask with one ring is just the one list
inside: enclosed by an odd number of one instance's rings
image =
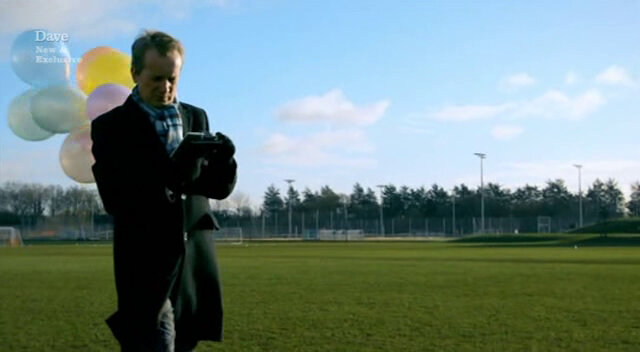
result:
[(130, 67), (131, 57), (119, 50), (107, 46), (91, 49), (78, 63), (78, 86), (87, 95), (106, 83), (133, 88)]

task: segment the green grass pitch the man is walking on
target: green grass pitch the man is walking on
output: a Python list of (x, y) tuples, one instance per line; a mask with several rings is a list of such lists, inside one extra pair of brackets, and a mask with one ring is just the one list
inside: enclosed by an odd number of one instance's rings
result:
[[(197, 351), (637, 351), (640, 247), (218, 247), (225, 341)], [(109, 245), (0, 248), (0, 350), (116, 351)]]

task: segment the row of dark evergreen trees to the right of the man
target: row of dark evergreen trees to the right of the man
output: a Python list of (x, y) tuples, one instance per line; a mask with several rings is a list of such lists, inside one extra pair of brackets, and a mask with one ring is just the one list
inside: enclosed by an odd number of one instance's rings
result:
[(582, 194), (570, 192), (562, 179), (548, 180), (542, 187), (527, 184), (515, 190), (497, 183), (488, 183), (483, 189), (465, 184), (449, 190), (438, 184), (418, 188), (392, 184), (378, 187), (376, 193), (371, 187), (356, 183), (350, 194), (340, 194), (330, 186), (299, 192), (290, 185), (282, 194), (272, 184), (264, 193), (260, 211), (267, 217), (282, 216), (290, 205), (293, 212), (333, 211), (358, 219), (376, 219), (381, 210), (384, 218), (445, 218), (453, 213), (459, 218), (472, 218), (480, 217), (484, 196), (485, 216), (494, 218), (569, 217), (577, 222), (580, 203), (585, 224), (640, 215), (640, 183), (632, 185), (630, 199), (626, 201), (613, 179), (597, 179)]

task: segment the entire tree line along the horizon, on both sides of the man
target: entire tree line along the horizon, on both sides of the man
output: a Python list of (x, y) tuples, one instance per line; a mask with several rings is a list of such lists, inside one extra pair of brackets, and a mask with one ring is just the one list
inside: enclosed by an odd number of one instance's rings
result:
[[(385, 219), (383, 221), (450, 218), (452, 215), (459, 219), (478, 218), (484, 196), (485, 216), (493, 218), (565, 217), (573, 219), (575, 226), (580, 203), (585, 224), (622, 216), (640, 216), (640, 182), (631, 185), (630, 197), (626, 200), (614, 179), (597, 179), (581, 195), (570, 192), (562, 179), (548, 180), (543, 186), (527, 184), (515, 190), (497, 183), (488, 183), (483, 189), (465, 184), (452, 189), (438, 184), (417, 188), (393, 184), (378, 187), (374, 189), (356, 183), (350, 194), (344, 194), (328, 185), (319, 190), (307, 187), (302, 191), (290, 185), (281, 192), (271, 184), (264, 192), (258, 209), (251, 207), (248, 197), (242, 192), (232, 195), (233, 201), (226, 207), (214, 209), (225, 223), (241, 223), (243, 219), (256, 217), (280, 217), (280, 224), (285, 224), (290, 207), (298, 218), (308, 214), (309, 222), (315, 214), (316, 218), (331, 219), (332, 227), (334, 222), (342, 220), (348, 227), (350, 222), (378, 220), (381, 215)], [(0, 186), (0, 226), (24, 228), (47, 219), (67, 219), (66, 223), (70, 222), (68, 219), (76, 219), (76, 222), (89, 220), (92, 224), (110, 221), (95, 189), (21, 182), (6, 182)]]

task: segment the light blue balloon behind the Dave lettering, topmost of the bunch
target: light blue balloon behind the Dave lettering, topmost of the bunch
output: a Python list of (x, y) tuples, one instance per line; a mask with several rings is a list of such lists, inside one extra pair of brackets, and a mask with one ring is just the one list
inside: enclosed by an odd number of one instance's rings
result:
[(69, 49), (62, 38), (54, 39), (52, 35), (43, 29), (28, 30), (11, 45), (13, 72), (33, 87), (64, 84), (71, 77)]

